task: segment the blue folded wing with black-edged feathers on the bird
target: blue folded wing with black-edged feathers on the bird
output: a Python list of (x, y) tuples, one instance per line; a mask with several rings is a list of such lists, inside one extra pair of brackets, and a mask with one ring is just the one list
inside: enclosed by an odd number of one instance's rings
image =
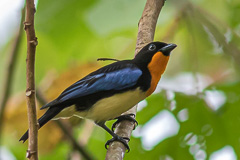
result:
[[(142, 71), (135, 65), (119, 69), (116, 65), (98, 70), (68, 87), (57, 98), (57, 103), (90, 95), (100, 91), (122, 90), (134, 86)], [(56, 101), (55, 101), (56, 102)], [(44, 107), (45, 108), (45, 107)]]

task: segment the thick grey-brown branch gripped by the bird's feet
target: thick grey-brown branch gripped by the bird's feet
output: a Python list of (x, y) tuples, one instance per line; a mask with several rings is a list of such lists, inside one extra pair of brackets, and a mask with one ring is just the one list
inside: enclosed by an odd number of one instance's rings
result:
[[(145, 8), (143, 10), (142, 17), (138, 24), (138, 36), (135, 49), (135, 55), (144, 47), (147, 43), (150, 43), (154, 39), (155, 28), (159, 13), (164, 5), (164, 0), (147, 0)], [(133, 107), (124, 114), (133, 113), (136, 115), (137, 106)], [(115, 133), (122, 137), (130, 138), (132, 130), (134, 129), (134, 123), (130, 121), (122, 121), (115, 129)], [(106, 159), (118, 159), (121, 160), (124, 157), (126, 148), (120, 142), (114, 141), (109, 145), (107, 150)]]

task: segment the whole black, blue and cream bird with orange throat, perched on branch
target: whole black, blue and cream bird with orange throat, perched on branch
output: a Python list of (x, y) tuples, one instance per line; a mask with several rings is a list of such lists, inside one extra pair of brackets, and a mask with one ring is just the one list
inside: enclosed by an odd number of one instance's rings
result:
[[(111, 142), (119, 141), (129, 151), (129, 139), (118, 136), (113, 128), (122, 120), (137, 123), (132, 114), (122, 113), (154, 92), (166, 69), (170, 53), (176, 47), (173, 43), (151, 42), (133, 59), (116, 60), (88, 74), (40, 108), (47, 111), (38, 119), (39, 129), (51, 119), (72, 116), (90, 119), (112, 135), (113, 138), (105, 144), (106, 148)], [(114, 119), (117, 121), (111, 130), (105, 123)], [(24, 143), (27, 139), (28, 130), (19, 141)]]

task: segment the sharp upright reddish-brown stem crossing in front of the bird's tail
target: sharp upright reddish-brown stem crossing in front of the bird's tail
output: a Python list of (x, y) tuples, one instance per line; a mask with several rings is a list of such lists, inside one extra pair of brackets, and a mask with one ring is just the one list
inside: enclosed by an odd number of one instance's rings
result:
[(38, 159), (38, 123), (36, 115), (35, 102), (35, 52), (37, 46), (37, 38), (34, 30), (34, 14), (35, 14), (34, 0), (26, 0), (26, 21), (24, 22), (24, 29), (27, 34), (27, 87), (26, 99), (28, 106), (28, 125), (29, 125), (29, 141), (27, 158), (30, 160)]

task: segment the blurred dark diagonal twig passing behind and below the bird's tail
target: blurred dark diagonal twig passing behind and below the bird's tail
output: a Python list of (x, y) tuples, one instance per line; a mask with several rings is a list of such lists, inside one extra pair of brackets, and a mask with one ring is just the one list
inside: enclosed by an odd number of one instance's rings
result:
[[(43, 96), (42, 92), (39, 89), (36, 92), (36, 97), (41, 104), (46, 104), (47, 103), (46, 98)], [(61, 121), (57, 120), (57, 121), (54, 121), (54, 122), (56, 122), (58, 127), (67, 136), (67, 138), (71, 142), (73, 148), (75, 148), (86, 160), (94, 159), (93, 156), (90, 153), (88, 153), (88, 151), (86, 151), (86, 149), (80, 143), (78, 143), (76, 141), (76, 139), (73, 137), (72, 133), (70, 133), (68, 131), (66, 126)]]

